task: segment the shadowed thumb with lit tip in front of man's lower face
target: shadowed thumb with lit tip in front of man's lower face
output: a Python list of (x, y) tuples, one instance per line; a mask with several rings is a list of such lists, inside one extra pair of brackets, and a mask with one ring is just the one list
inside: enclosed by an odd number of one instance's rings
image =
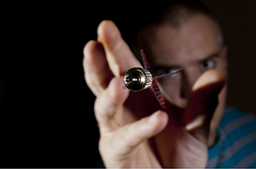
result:
[(185, 128), (203, 142), (207, 142), (212, 115), (218, 106), (218, 93), (224, 87), (224, 75), (208, 70), (195, 82), (188, 108), (184, 113)]

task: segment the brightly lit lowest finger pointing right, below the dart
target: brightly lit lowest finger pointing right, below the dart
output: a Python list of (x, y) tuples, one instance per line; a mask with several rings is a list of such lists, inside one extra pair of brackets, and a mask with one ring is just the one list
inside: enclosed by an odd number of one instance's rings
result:
[(136, 121), (119, 129), (117, 137), (119, 140), (119, 155), (128, 155), (139, 144), (146, 141), (161, 132), (168, 123), (168, 115), (166, 112), (158, 110), (153, 115), (144, 117), (140, 121)]

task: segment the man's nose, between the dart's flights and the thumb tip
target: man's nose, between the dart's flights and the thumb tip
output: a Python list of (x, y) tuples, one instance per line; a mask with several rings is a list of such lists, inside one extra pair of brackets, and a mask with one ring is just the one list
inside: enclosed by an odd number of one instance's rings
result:
[(199, 76), (201, 76), (199, 70), (183, 70), (182, 87), (180, 91), (180, 97), (182, 99), (189, 100), (192, 93), (192, 87)]

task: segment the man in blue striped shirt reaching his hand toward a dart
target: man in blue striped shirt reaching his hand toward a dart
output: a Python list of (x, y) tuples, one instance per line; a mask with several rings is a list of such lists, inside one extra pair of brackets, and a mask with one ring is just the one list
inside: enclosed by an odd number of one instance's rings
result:
[[(106, 167), (256, 167), (255, 118), (225, 110), (227, 47), (199, 2), (170, 3), (150, 11), (134, 52), (104, 20), (97, 41), (84, 48), (85, 80), (96, 95), (99, 149)], [(149, 13), (147, 13), (149, 14)], [(142, 67), (143, 49), (166, 100), (151, 89), (131, 93), (123, 75)]]

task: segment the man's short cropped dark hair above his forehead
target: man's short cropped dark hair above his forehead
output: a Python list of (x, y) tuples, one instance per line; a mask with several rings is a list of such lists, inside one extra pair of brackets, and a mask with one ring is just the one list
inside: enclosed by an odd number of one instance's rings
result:
[[(144, 4), (144, 7), (137, 7), (137, 10), (137, 31), (131, 44), (135, 55), (138, 54), (138, 41), (145, 27), (159, 24), (170, 24), (179, 27), (195, 14), (205, 14), (217, 25), (221, 45), (224, 45), (224, 35), (218, 21), (211, 14), (209, 8), (200, 0), (149, 1)], [(139, 57), (137, 58), (139, 59)]]

